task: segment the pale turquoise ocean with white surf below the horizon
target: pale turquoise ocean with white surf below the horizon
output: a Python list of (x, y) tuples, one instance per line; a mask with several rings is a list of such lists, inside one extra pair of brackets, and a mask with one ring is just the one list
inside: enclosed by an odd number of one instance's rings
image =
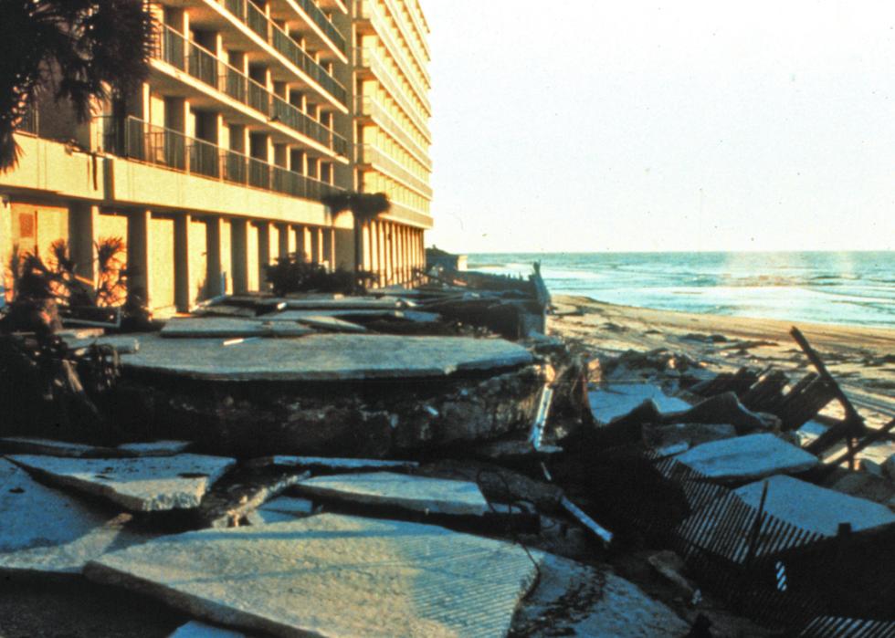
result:
[(737, 317), (895, 328), (895, 251), (841, 253), (502, 253), (469, 269), (528, 274), (614, 304)]

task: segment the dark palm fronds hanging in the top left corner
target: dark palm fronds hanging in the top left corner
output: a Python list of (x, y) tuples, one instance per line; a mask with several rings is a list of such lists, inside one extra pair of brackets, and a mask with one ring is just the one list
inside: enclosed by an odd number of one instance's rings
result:
[(0, 0), (0, 172), (41, 91), (80, 121), (94, 99), (123, 99), (149, 74), (154, 21), (144, 0)]

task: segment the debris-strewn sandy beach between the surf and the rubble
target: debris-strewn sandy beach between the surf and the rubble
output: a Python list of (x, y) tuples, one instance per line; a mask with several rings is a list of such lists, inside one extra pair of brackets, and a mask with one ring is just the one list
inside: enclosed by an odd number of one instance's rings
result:
[[(871, 427), (895, 414), (895, 329), (690, 314), (561, 295), (553, 305), (550, 333), (595, 357), (664, 348), (711, 371), (774, 366), (791, 380), (813, 370), (789, 334), (797, 325)], [(837, 408), (831, 404), (828, 414), (837, 416)]]

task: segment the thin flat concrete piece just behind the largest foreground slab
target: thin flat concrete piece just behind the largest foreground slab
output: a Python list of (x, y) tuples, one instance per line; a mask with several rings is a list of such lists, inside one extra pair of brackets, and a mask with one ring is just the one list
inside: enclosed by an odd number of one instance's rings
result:
[(296, 488), (312, 497), (403, 507), (428, 514), (482, 516), (489, 511), (488, 501), (475, 483), (444, 478), (371, 472), (314, 476), (301, 481)]

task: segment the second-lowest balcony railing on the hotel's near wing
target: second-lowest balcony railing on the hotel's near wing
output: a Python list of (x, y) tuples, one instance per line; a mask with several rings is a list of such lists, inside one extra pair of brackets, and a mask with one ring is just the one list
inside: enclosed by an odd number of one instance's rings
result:
[(284, 126), (321, 143), (332, 152), (348, 156), (348, 141), (341, 135), (313, 120), (286, 100), (272, 93), (258, 82), (219, 60), (207, 49), (185, 39), (170, 26), (163, 26), (162, 37), (155, 55), (174, 68), (232, 99), (257, 110), (266, 120), (278, 120)]

